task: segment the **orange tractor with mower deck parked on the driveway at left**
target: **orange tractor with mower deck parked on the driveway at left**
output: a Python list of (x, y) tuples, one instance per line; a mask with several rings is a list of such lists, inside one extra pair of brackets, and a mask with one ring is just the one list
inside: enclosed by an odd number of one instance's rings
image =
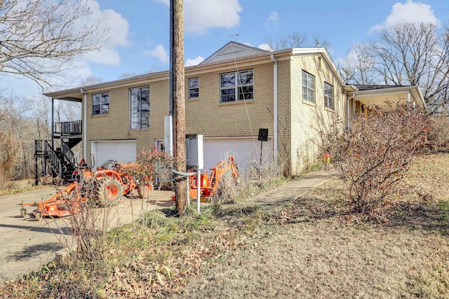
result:
[(145, 182), (140, 183), (132, 175), (126, 173), (126, 169), (133, 167), (135, 164), (121, 165), (116, 161), (107, 160), (95, 172), (92, 172), (91, 168), (81, 161), (79, 170), (74, 172), (76, 181), (58, 191), (48, 200), (22, 202), (20, 216), (26, 216), (27, 209), (25, 207), (27, 206), (37, 207), (33, 211), (36, 220), (40, 220), (43, 216), (69, 216), (76, 214), (88, 197), (105, 207), (116, 204), (121, 197), (130, 195), (131, 191), (135, 189), (137, 189), (138, 196), (143, 198), (153, 190), (153, 185), (150, 183), (151, 177), (145, 177)]

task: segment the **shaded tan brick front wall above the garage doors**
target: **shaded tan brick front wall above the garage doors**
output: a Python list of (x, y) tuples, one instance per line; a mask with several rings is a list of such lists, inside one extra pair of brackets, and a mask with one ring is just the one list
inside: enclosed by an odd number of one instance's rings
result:
[[(189, 76), (186, 73), (186, 133), (205, 137), (257, 136), (259, 128), (268, 128), (273, 135), (273, 64), (257, 64), (243, 69), (253, 69), (254, 100), (220, 104), (220, 74), (236, 71), (223, 69)], [(189, 99), (189, 78), (199, 77), (199, 97)], [(145, 84), (144, 84), (145, 85)], [(109, 92), (109, 114), (92, 116), (92, 94), (88, 94), (87, 150), (91, 155), (91, 141), (135, 139), (138, 153), (154, 147), (156, 139), (163, 139), (163, 117), (168, 116), (168, 80), (149, 82), (149, 128), (130, 129), (129, 89), (102, 90)], [(88, 159), (89, 160), (89, 159)]]

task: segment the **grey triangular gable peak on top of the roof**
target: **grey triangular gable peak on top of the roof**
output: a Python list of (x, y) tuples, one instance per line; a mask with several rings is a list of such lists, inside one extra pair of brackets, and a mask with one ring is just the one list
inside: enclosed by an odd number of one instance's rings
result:
[(220, 62), (225, 60), (232, 60), (239, 57), (248, 57), (253, 55), (258, 55), (262, 53), (268, 53), (267, 50), (262, 50), (260, 48), (255, 48), (252, 46), (243, 45), (243, 43), (236, 43), (235, 41), (229, 41), (225, 46), (217, 50), (207, 57), (199, 65), (204, 65), (213, 62)]

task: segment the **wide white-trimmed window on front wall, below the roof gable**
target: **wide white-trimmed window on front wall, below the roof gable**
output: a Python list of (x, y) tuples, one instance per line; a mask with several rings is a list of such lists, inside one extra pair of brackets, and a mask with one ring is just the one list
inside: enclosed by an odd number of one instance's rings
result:
[(220, 74), (220, 103), (254, 99), (253, 70)]

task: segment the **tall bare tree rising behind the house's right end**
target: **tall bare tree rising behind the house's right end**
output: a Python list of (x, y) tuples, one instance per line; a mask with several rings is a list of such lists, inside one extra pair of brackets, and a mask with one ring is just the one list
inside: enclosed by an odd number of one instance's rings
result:
[(374, 69), (385, 84), (419, 85), (435, 113), (448, 104), (449, 29), (438, 34), (435, 25), (407, 23), (386, 29), (370, 43)]

